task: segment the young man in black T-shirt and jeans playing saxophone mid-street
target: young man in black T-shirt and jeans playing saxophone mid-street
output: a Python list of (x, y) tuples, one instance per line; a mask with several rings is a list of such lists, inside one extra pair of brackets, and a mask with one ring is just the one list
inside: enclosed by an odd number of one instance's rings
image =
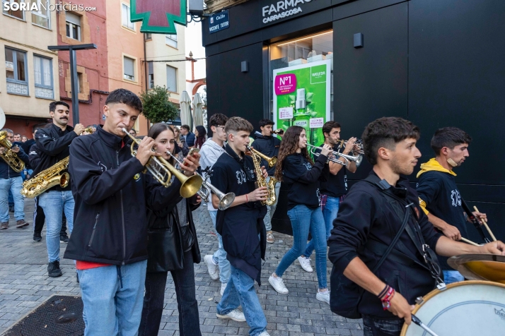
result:
[[(231, 276), (217, 306), (218, 318), (247, 321), (249, 335), (267, 336), (267, 319), (257, 298), (254, 281), (261, 285), (261, 259), (265, 259), (265, 224), (267, 207), (259, 201), (267, 199), (267, 188), (255, 187), (255, 166), (250, 156), (244, 155), (249, 145), (253, 125), (233, 116), (226, 121), (226, 152), (213, 166), (212, 184), (224, 193), (236, 197), (226, 210), (218, 210), (216, 229), (223, 239), (226, 258), (230, 261)], [(262, 167), (263, 178), (268, 174)], [(219, 198), (212, 194), (212, 204), (218, 208)], [(238, 310), (242, 306), (243, 313)]]

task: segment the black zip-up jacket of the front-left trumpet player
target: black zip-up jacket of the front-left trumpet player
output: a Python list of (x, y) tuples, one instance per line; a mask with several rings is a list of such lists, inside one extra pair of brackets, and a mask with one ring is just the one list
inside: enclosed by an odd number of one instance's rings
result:
[(74, 231), (64, 258), (112, 265), (147, 259), (144, 167), (124, 139), (98, 128), (72, 142)]

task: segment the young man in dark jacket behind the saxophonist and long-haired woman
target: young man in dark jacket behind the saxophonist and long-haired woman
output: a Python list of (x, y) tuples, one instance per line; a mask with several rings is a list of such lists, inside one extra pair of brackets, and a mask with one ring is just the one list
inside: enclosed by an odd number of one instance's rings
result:
[[(267, 155), (267, 157), (277, 157), (279, 155), (279, 146), (281, 145), (281, 140), (277, 138), (274, 134), (274, 121), (270, 119), (260, 120), (261, 134), (255, 133), (255, 142), (253, 148), (258, 152)], [(268, 178), (267, 184), (270, 179), (274, 178), (275, 166), (269, 167), (265, 160), (262, 160), (262, 164), (267, 167)], [(279, 200), (279, 191), (281, 189), (281, 184), (278, 182), (275, 184), (275, 203), (272, 205), (267, 205), (267, 215), (263, 221), (265, 222), (265, 229), (267, 229), (267, 243), (273, 244), (275, 241), (274, 234), (272, 234), (272, 217), (274, 217), (275, 209), (277, 208), (277, 200)]]

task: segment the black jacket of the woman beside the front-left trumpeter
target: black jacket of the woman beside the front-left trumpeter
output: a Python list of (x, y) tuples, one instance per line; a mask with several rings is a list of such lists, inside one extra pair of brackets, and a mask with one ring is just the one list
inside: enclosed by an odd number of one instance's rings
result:
[[(148, 244), (147, 252), (147, 272), (168, 272), (170, 270), (182, 270), (184, 265), (184, 249), (182, 248), (182, 228), (180, 227), (179, 216), (176, 205), (183, 200), (180, 196), (180, 181), (173, 179), (172, 185), (168, 188), (153, 179), (153, 176), (146, 174), (147, 191), (147, 220), (148, 220)], [(193, 261), (199, 263), (201, 260), (200, 248), (198, 246), (197, 230), (193, 222), (192, 211), (199, 207), (195, 205), (196, 196), (187, 198), (186, 216), (188, 225), (194, 239), (191, 247)], [(193, 267), (193, 265), (189, 265)]]

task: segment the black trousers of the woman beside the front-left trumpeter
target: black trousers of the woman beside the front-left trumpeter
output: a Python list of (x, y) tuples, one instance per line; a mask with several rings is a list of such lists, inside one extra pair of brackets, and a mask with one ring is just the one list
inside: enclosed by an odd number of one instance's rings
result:
[[(172, 270), (177, 308), (179, 311), (179, 335), (201, 336), (198, 302), (195, 294), (195, 265), (191, 251), (184, 253), (184, 268)], [(139, 327), (139, 336), (156, 336), (163, 313), (165, 287), (168, 272), (146, 274), (146, 294)]]

